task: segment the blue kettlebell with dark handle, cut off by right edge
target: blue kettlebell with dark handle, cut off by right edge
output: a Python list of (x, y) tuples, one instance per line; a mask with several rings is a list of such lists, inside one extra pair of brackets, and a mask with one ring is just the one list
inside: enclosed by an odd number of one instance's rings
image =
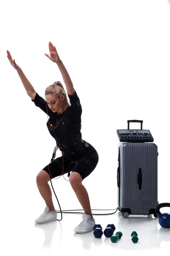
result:
[(170, 227), (170, 213), (161, 213), (159, 210), (161, 207), (170, 207), (170, 203), (162, 203), (156, 206), (156, 215), (159, 218), (159, 224), (161, 227)]

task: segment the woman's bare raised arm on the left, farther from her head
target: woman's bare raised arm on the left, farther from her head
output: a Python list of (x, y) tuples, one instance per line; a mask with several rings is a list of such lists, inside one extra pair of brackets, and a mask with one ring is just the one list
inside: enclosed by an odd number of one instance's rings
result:
[(18, 75), (20, 76), (20, 79), (23, 83), (23, 86), (26, 89), (26, 92), (28, 94), (28, 96), (31, 97), (31, 99), (34, 100), (35, 95), (36, 95), (36, 91), (34, 90), (34, 87), (32, 86), (32, 84), (28, 81), (28, 79), (26, 78), (26, 76), (24, 75), (23, 71), (21, 70), (21, 68), (15, 63), (15, 60), (12, 59), (11, 54), (9, 51), (7, 51), (7, 57), (8, 60), (10, 61), (12, 67), (14, 67), (14, 69), (17, 70)]

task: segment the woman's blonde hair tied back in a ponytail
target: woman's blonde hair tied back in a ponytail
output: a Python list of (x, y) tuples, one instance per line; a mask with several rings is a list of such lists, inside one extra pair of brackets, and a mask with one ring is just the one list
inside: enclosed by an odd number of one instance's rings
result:
[(65, 93), (65, 89), (60, 81), (54, 82), (54, 84), (51, 84), (50, 86), (48, 86), (45, 89), (45, 95), (47, 95), (47, 94), (54, 95), (56, 97), (59, 97), (60, 99), (61, 99), (61, 96), (63, 95), (66, 104), (68, 105), (68, 107), (70, 107), (70, 103), (68, 101), (68, 96)]

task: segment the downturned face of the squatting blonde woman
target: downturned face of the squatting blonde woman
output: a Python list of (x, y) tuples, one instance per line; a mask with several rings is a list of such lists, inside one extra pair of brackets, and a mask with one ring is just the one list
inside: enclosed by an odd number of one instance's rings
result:
[(63, 95), (61, 99), (51, 94), (45, 95), (45, 101), (47, 102), (48, 107), (53, 112), (57, 112), (62, 107), (62, 105), (64, 104), (63, 99), (64, 99)]

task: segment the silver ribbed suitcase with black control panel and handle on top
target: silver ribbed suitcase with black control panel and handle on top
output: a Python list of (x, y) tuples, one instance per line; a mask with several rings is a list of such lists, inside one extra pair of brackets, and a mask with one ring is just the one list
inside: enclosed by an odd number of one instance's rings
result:
[[(141, 120), (128, 120), (127, 130), (117, 130), (118, 209), (129, 215), (156, 215), (158, 205), (158, 147)], [(141, 122), (141, 129), (130, 130), (130, 122)], [(126, 136), (126, 137), (125, 137)]]

